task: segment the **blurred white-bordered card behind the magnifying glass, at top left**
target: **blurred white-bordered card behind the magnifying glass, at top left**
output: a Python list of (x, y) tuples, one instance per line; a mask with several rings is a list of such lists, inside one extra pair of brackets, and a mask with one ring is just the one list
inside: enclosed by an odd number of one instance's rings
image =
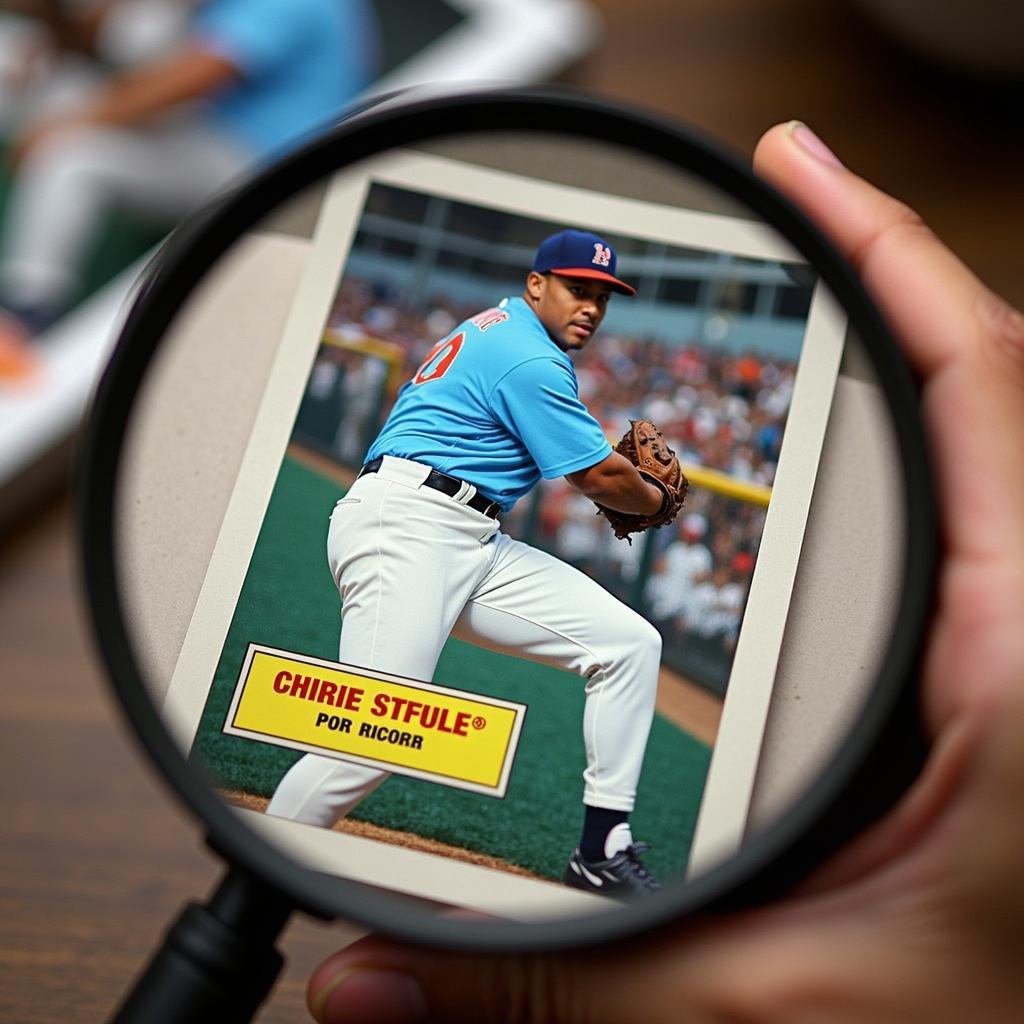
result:
[(358, 98), (540, 82), (597, 39), (578, 0), (15, 10), (0, 14), (0, 529), (66, 469), (119, 312), (176, 221)]

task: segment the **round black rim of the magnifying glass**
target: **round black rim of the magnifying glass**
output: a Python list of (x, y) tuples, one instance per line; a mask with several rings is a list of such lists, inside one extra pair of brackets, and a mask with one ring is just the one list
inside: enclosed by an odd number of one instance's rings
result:
[[(871, 698), (856, 726), (799, 804), (722, 865), (670, 885), (656, 900), (565, 921), (502, 923), (411, 913), (398, 897), (299, 867), (244, 825), (182, 757), (143, 683), (118, 590), (116, 492), (125, 428), (164, 332), (203, 274), (241, 234), (290, 196), (385, 150), (467, 132), (501, 130), (593, 138), (632, 147), (700, 175), (785, 237), (812, 263), (856, 328), (893, 418), (906, 498), (903, 600)], [(205, 823), (232, 864), (270, 882), (309, 913), (343, 916), (386, 934), (444, 948), (528, 951), (614, 941), (685, 914), (746, 906), (780, 895), (848, 834), (877, 816), (907, 778), (876, 771), (866, 812), (845, 813), (852, 790), (887, 758), (894, 737), (920, 732), (914, 670), (933, 604), (937, 522), (933, 474), (913, 375), (852, 268), (821, 232), (750, 167), (693, 129), (567, 90), (502, 89), (407, 95), (352, 116), (187, 221), (148, 269), (97, 387), (79, 460), (83, 585), (96, 641), (121, 708), (140, 745), (178, 798)], [(911, 765), (909, 775), (916, 766)], [(904, 773), (908, 777), (907, 773)], [(898, 781), (892, 781), (898, 779)]]

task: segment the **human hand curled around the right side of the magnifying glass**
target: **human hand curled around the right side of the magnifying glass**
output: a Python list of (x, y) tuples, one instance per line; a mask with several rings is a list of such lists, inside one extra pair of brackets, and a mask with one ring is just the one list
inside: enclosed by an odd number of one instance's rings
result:
[(945, 551), (921, 778), (771, 906), (560, 954), (365, 939), (310, 980), (323, 1024), (1024, 1019), (1024, 316), (805, 126), (769, 131), (755, 167), (852, 261), (923, 379)]

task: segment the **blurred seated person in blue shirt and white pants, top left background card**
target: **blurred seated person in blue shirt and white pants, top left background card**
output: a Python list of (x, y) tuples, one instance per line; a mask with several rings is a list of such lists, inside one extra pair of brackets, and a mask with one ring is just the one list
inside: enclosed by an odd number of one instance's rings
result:
[(170, 52), (14, 135), (0, 332), (28, 337), (61, 315), (111, 207), (173, 223), (330, 122), (375, 76), (369, 0), (177, 2), (189, 9)]

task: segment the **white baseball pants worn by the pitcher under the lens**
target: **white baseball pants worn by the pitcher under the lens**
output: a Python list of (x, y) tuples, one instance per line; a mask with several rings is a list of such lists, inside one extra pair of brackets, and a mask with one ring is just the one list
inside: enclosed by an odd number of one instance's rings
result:
[[(578, 673), (586, 680), (584, 801), (632, 810), (660, 636), (589, 577), (422, 486), (429, 472), (385, 457), (335, 507), (328, 561), (342, 598), (339, 660), (430, 681), (454, 633)], [(486, 680), (479, 688), (487, 691)], [(329, 827), (387, 775), (307, 754), (286, 773), (267, 813)]]

